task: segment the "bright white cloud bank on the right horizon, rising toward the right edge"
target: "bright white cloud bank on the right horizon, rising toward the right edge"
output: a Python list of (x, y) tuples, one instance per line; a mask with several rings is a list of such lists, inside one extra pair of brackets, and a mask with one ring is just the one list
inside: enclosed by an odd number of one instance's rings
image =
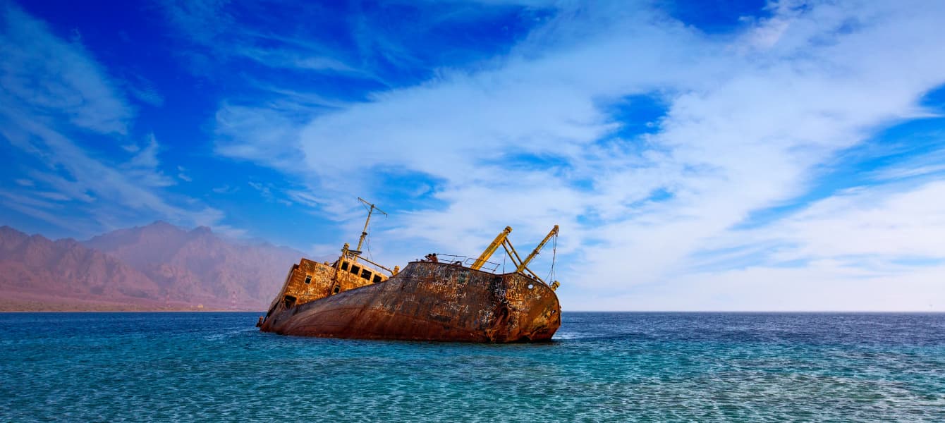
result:
[(942, 180), (851, 189), (772, 225), (722, 232), (708, 244), (729, 254), (680, 265), (658, 286), (578, 303), (640, 310), (940, 311), (942, 198)]

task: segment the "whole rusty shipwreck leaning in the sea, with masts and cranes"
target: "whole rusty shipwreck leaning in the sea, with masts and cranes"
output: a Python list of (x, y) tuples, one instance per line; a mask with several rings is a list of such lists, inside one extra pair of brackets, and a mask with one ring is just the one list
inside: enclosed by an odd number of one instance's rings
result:
[[(508, 241), (512, 228), (506, 227), (474, 260), (430, 253), (403, 270), (389, 269), (362, 255), (371, 214), (384, 212), (358, 199), (368, 208), (368, 219), (357, 247), (345, 244), (334, 263), (302, 258), (293, 264), (268, 312), (259, 318), (260, 330), (335, 338), (510, 343), (550, 340), (561, 326), (558, 281), (546, 283), (528, 268), (545, 244), (557, 242), (557, 225), (524, 259)], [(499, 264), (489, 262), (500, 246), (511, 262), (506, 273), (497, 273)]]

